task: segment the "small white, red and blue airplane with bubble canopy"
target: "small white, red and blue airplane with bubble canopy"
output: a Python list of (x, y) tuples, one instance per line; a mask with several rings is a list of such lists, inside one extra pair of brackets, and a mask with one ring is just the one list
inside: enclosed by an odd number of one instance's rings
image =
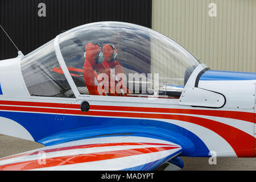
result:
[(150, 28), (73, 28), (0, 61), (0, 134), (46, 146), (0, 159), (0, 170), (176, 170), (180, 156), (253, 158), (255, 83), (256, 73), (210, 70)]

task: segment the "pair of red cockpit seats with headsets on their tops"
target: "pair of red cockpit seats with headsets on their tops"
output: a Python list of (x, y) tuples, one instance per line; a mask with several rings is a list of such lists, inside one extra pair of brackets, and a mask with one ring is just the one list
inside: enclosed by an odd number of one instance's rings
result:
[[(108, 85), (103, 85), (103, 82), (98, 81), (101, 80), (98, 77), (100, 73), (108, 76)], [(86, 44), (84, 80), (91, 95), (127, 96), (129, 90), (123, 83), (122, 77), (118, 75), (119, 73), (123, 73), (123, 69), (117, 62), (117, 49), (113, 44), (106, 44), (102, 51), (98, 43)]]

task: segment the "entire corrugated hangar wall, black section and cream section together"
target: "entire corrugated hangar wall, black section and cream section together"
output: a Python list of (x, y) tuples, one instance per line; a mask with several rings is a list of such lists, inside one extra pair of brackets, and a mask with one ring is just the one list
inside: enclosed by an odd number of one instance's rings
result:
[[(46, 17), (38, 16), (40, 2)], [(210, 3), (216, 3), (217, 16), (209, 16)], [(61, 30), (119, 20), (152, 23), (211, 69), (256, 72), (256, 0), (1, 0), (0, 10), (0, 23), (24, 54)], [(0, 60), (16, 57), (2, 30), (0, 40)]]

